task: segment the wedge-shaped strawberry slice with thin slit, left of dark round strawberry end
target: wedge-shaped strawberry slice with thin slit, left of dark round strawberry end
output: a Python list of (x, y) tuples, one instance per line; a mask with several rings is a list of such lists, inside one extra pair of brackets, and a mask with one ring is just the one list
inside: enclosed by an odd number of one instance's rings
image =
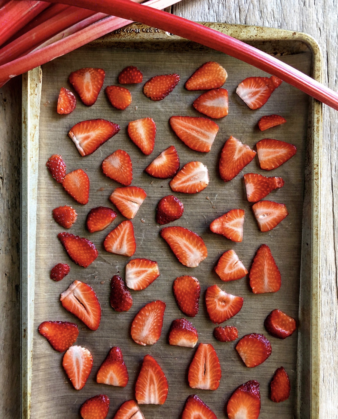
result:
[(146, 192), (138, 186), (125, 186), (116, 188), (109, 199), (123, 217), (133, 219), (146, 196)]

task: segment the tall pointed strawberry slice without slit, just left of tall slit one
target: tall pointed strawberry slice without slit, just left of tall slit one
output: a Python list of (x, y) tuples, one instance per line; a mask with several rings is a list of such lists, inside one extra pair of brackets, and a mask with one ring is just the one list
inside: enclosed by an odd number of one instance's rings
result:
[(168, 381), (159, 364), (150, 355), (143, 358), (135, 385), (138, 404), (163, 404), (168, 396)]

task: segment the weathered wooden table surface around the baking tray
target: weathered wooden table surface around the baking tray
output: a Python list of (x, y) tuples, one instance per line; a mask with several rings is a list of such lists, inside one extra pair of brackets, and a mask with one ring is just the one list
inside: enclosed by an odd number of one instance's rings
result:
[[(336, 0), (182, 0), (195, 21), (270, 26), (310, 34), (323, 53), (323, 83), (338, 91)], [(0, 417), (20, 417), (21, 78), (0, 89)], [(323, 106), (320, 266), (320, 418), (338, 418), (338, 112)], [(40, 419), (40, 418), (39, 418)], [(41, 418), (42, 419), (42, 418)]]

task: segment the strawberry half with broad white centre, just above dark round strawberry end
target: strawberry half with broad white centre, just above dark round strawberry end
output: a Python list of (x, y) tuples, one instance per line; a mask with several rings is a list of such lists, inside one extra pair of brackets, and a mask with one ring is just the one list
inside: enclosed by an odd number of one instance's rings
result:
[(185, 164), (177, 175), (169, 182), (174, 192), (196, 194), (203, 191), (209, 184), (207, 166), (199, 161)]

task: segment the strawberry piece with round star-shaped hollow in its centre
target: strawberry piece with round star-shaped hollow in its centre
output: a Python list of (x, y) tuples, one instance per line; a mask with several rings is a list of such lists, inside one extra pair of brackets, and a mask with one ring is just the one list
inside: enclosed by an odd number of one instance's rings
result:
[(211, 285), (205, 292), (205, 305), (210, 320), (215, 324), (235, 316), (243, 306), (243, 298), (237, 295), (228, 294), (218, 287)]

